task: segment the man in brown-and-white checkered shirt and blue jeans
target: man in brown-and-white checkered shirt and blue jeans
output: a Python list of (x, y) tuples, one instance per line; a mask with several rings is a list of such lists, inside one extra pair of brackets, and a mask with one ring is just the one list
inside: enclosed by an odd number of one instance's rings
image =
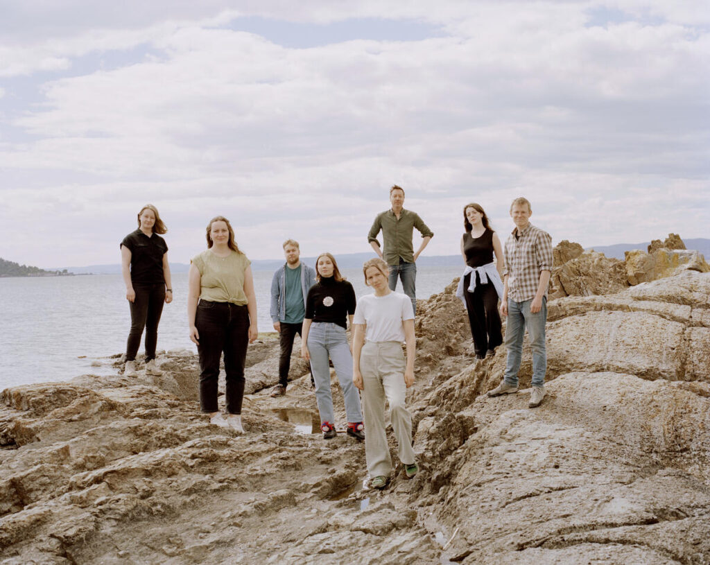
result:
[(503, 255), (503, 297), (501, 314), (506, 325), (506, 373), (503, 381), (488, 392), (498, 396), (518, 392), (518, 369), (523, 357), (523, 336), (528, 328), (532, 350), (532, 394), (528, 406), (540, 405), (545, 397), (545, 321), (547, 320), (547, 285), (552, 273), (552, 238), (530, 224), (532, 208), (525, 198), (516, 198), (510, 206), (515, 229), (506, 241)]

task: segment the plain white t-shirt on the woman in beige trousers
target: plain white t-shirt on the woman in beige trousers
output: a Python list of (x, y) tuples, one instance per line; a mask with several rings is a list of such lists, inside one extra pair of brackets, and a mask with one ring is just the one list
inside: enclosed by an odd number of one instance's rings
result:
[(355, 308), (353, 324), (367, 324), (367, 341), (404, 341), (404, 320), (414, 319), (412, 300), (399, 292), (385, 296), (361, 297)]

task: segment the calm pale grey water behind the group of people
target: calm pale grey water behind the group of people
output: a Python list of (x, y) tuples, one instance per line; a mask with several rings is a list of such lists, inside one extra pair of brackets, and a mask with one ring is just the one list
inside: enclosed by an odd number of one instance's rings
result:
[[(419, 268), (417, 298), (441, 292), (462, 270)], [(371, 292), (361, 270), (344, 270), (343, 274), (356, 295)], [(260, 331), (273, 331), (269, 316), (272, 276), (268, 271), (254, 271)], [(160, 319), (158, 351), (197, 351), (187, 336), (187, 273), (173, 275), (173, 290), (175, 300), (165, 305)], [(0, 278), (0, 390), (113, 372), (107, 356), (125, 351), (131, 325), (125, 293), (121, 275)], [(91, 366), (92, 361), (102, 364)]]

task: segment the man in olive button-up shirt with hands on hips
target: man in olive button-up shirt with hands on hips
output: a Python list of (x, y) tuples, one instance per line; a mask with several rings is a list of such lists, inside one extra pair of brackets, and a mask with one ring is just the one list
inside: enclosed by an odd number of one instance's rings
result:
[[(404, 190), (402, 187), (394, 185), (390, 189), (390, 202), (392, 203), (391, 209), (377, 214), (370, 233), (367, 234), (367, 240), (378, 256), (390, 266), (390, 288), (395, 290), (399, 276), (402, 280), (404, 293), (412, 300), (412, 307), (416, 314), (416, 260), (430, 239), (434, 237), (434, 232), (415, 212), (403, 208)], [(422, 244), (416, 253), (412, 245), (412, 233), (415, 228), (422, 234)], [(382, 230), (384, 251), (381, 251), (380, 242), (377, 241), (377, 234), (380, 233), (380, 230)]]

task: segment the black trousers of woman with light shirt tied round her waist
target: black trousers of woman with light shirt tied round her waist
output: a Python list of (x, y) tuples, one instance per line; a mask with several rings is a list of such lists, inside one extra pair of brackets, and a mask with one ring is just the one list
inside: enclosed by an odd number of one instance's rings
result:
[(498, 314), (498, 292), (493, 283), (478, 284), (474, 292), (469, 292), (471, 274), (464, 277), (464, 299), (469, 313), (471, 337), (474, 339), (474, 350), (477, 356), (485, 356), (488, 349), (496, 349), (503, 343), (501, 334), (501, 314)]

